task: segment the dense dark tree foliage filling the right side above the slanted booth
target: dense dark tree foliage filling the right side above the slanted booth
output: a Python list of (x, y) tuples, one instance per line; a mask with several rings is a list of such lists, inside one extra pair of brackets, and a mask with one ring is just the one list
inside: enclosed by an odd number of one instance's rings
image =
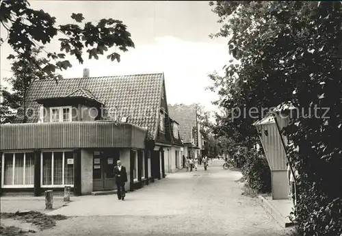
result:
[[(253, 146), (252, 122), (264, 108), (291, 102), (301, 114), (285, 130), (291, 164), (300, 172), (296, 220), (306, 235), (342, 233), (341, 103), (342, 4), (339, 1), (211, 2), (239, 64), (211, 75), (218, 105), (234, 116), (218, 117), (217, 132)], [(233, 61), (231, 61), (233, 62)], [(317, 116), (313, 117), (313, 108)], [(238, 109), (258, 109), (258, 116)], [(328, 108), (328, 113), (324, 107)], [(311, 114), (309, 114), (311, 111)], [(299, 147), (299, 152), (297, 151)]]

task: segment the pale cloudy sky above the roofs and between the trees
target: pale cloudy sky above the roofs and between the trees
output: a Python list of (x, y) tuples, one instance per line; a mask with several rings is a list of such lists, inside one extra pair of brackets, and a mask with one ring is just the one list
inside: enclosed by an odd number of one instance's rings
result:
[[(200, 103), (213, 110), (211, 101), (218, 96), (209, 90), (208, 74), (228, 63), (227, 40), (209, 38), (218, 32), (218, 16), (211, 12), (207, 1), (29, 1), (34, 9), (42, 9), (56, 17), (57, 25), (75, 23), (72, 13), (83, 13), (85, 21), (96, 22), (101, 18), (123, 21), (131, 33), (135, 49), (121, 54), (121, 62), (111, 62), (106, 55), (98, 60), (79, 64), (74, 57), (67, 57), (72, 68), (60, 73), (64, 78), (81, 77), (83, 68), (90, 69), (91, 77), (164, 73), (168, 103)], [(1, 28), (1, 37), (7, 33)], [(45, 49), (59, 51), (59, 41), (53, 40)], [(114, 52), (109, 49), (107, 53)], [(10, 77), (12, 53), (8, 44), (1, 46), (1, 85)]]

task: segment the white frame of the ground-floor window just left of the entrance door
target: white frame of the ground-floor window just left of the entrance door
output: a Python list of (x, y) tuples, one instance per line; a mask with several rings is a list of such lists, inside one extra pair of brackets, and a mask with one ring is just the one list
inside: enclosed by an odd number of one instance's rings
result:
[[(63, 153), (62, 155), (62, 185), (54, 185), (53, 184), (53, 153)], [(66, 152), (73, 152), (73, 150), (44, 150), (40, 153), (40, 187), (65, 187), (65, 186), (70, 186), (70, 187), (74, 187), (75, 185), (75, 157), (74, 157), (74, 184), (73, 185), (66, 185), (65, 184), (65, 153)], [(51, 154), (51, 185), (43, 185), (43, 153), (52, 153)]]

